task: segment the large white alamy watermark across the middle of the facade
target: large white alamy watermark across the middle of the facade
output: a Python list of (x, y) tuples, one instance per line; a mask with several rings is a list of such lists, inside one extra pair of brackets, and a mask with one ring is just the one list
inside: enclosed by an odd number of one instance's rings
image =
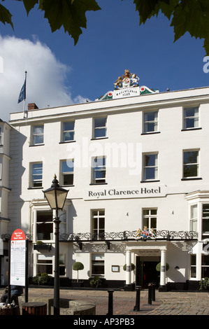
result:
[[(102, 143), (90, 142), (87, 137), (82, 137), (81, 144), (68, 144), (66, 165), (79, 168), (88, 168), (98, 165), (106, 168), (127, 168), (129, 175), (138, 175), (141, 172), (141, 143)], [(105, 158), (105, 163), (101, 162)]]

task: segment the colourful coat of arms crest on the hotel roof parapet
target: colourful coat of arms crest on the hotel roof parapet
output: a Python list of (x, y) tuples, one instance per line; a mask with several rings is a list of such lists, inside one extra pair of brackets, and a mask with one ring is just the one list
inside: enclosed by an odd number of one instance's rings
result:
[(130, 71), (126, 69), (124, 75), (119, 76), (115, 81), (114, 90), (106, 92), (106, 94), (97, 98), (96, 101), (139, 96), (140, 94), (156, 94), (159, 92), (159, 90), (150, 89), (145, 85), (138, 85), (138, 80), (139, 78), (136, 73), (130, 73)]

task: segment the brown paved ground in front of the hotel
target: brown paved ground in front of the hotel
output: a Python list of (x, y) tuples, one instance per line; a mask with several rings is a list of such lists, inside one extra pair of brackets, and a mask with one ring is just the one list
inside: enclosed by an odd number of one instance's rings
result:
[[(29, 302), (47, 302), (53, 297), (53, 288), (29, 288)], [(0, 288), (3, 294), (3, 288)], [(74, 290), (71, 288), (60, 289), (61, 298), (71, 300), (86, 300), (96, 304), (96, 315), (108, 314), (107, 290)], [(24, 295), (20, 297), (20, 308), (24, 302)], [(159, 292), (155, 291), (155, 300), (148, 304), (148, 291), (140, 291), (140, 310), (134, 311), (136, 305), (136, 291), (119, 291), (113, 293), (113, 316), (154, 316), (154, 315), (209, 315), (208, 292)], [(64, 315), (64, 309), (60, 309)]]

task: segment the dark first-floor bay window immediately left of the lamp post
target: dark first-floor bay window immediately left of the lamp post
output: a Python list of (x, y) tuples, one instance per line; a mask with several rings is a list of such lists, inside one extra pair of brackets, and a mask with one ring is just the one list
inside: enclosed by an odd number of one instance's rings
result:
[(37, 240), (53, 239), (52, 210), (36, 211), (36, 237)]

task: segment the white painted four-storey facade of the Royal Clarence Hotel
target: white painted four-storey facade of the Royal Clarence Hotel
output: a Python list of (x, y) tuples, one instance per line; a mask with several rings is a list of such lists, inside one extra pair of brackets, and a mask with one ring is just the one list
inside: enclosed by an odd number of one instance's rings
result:
[[(194, 115), (185, 115), (185, 109), (192, 109)], [(97, 268), (108, 286), (132, 282), (146, 286), (150, 280), (159, 280), (161, 287), (185, 285), (208, 274), (209, 256), (203, 244), (209, 237), (208, 109), (209, 87), (202, 87), (32, 109), (27, 116), (12, 113), (10, 173), (16, 170), (17, 176), (10, 174), (8, 232), (21, 227), (32, 237), (29, 275), (42, 269), (53, 275), (53, 224), (41, 226), (41, 211), (50, 211), (43, 190), (51, 186), (54, 174), (60, 186), (69, 189), (65, 215), (60, 216), (60, 233), (66, 233), (59, 247), (61, 277), (77, 278), (72, 269), (75, 261), (84, 265), (79, 279), (87, 282)], [(105, 125), (101, 120), (96, 127), (101, 138), (94, 138), (95, 118), (106, 118)], [(72, 122), (74, 127), (64, 125)], [(64, 131), (67, 138), (71, 133), (71, 141), (63, 140)], [(95, 181), (92, 160), (96, 157), (106, 162), (98, 160)], [(62, 170), (66, 160), (69, 165), (73, 160), (69, 173), (67, 166)], [(105, 178), (99, 172), (105, 172)], [(149, 230), (156, 225), (154, 232), (161, 234), (147, 241), (135, 239), (132, 233), (127, 239), (118, 235), (143, 230), (145, 224)], [(168, 241), (164, 230), (171, 235), (175, 232), (175, 237)], [(92, 241), (90, 235), (98, 231), (107, 233), (106, 241)], [(198, 237), (185, 238), (179, 233), (190, 231)], [(79, 233), (83, 234), (80, 244), (71, 239)], [(37, 240), (51, 248), (34, 250)], [(150, 273), (160, 261), (157, 279)], [(131, 263), (136, 269), (129, 272)], [(165, 272), (166, 263), (169, 269)], [(147, 272), (142, 272), (145, 267)]]

